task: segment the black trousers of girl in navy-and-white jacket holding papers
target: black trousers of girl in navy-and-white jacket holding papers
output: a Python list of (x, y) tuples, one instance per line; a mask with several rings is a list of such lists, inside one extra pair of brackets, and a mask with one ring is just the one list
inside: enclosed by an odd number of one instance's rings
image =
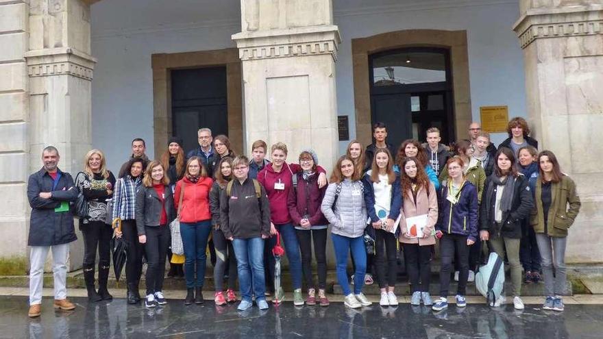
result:
[(375, 251), (375, 268), (379, 288), (395, 286), (397, 239), (394, 234), (383, 229), (376, 229)]

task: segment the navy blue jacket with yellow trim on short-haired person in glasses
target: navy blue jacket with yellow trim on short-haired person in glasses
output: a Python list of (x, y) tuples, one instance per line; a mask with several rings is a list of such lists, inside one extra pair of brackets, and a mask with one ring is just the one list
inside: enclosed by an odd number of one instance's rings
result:
[(478, 238), (478, 190), (471, 182), (465, 181), (460, 188), (458, 202), (454, 205), (446, 199), (448, 186), (442, 186), (439, 200), (439, 218), (436, 231), (446, 234), (460, 234), (476, 241)]

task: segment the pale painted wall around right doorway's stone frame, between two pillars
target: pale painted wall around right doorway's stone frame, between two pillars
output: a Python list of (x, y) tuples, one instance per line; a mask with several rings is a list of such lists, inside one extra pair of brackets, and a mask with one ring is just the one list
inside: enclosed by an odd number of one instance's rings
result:
[[(509, 118), (526, 116), (524, 60), (511, 29), (519, 18), (519, 5), (516, 1), (497, 3), (410, 11), (405, 10), (408, 6), (390, 6), (374, 14), (336, 13), (335, 22), (343, 38), (337, 62), (337, 109), (339, 115), (349, 115), (350, 138), (356, 136), (352, 39), (402, 29), (466, 29), (473, 120), (479, 121), (480, 106), (489, 105), (508, 105)], [(506, 134), (492, 135), (496, 144), (505, 138)], [(340, 142), (342, 151), (345, 147), (347, 142)]]

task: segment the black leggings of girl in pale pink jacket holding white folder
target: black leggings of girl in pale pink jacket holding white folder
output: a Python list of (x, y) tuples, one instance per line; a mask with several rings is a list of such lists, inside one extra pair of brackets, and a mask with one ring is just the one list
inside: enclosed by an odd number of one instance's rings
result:
[(402, 244), (408, 281), (413, 292), (429, 292), (431, 279), (431, 250), (433, 245)]

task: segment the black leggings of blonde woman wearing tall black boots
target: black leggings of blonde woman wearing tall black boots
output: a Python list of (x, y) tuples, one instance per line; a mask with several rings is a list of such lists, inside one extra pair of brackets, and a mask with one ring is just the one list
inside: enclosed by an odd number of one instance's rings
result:
[(113, 229), (104, 221), (90, 221), (82, 224), (82, 234), (84, 235), (84, 269), (90, 269), (95, 266), (97, 258), (97, 247), (99, 249), (99, 271), (102, 268), (109, 268), (111, 264), (111, 237)]

